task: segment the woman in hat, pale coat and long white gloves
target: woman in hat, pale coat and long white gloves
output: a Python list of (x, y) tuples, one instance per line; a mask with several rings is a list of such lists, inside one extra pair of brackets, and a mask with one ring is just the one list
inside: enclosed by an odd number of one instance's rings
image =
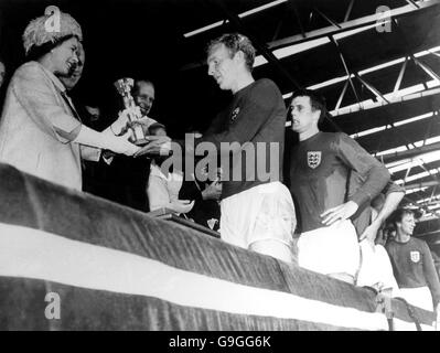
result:
[(0, 162), (81, 190), (82, 158), (98, 160), (101, 149), (132, 156), (139, 147), (128, 141), (128, 133), (116, 136), (127, 122), (125, 115), (103, 132), (82, 124), (56, 75), (66, 75), (77, 65), (83, 34), (69, 14), (54, 8), (24, 31), (28, 62), (8, 87), (0, 120)]

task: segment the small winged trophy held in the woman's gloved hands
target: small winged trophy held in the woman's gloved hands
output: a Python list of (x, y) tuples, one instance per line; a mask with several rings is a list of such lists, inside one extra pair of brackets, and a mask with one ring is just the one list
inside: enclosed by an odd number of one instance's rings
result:
[[(135, 98), (131, 95), (131, 88), (133, 87), (133, 85), (135, 79), (129, 77), (120, 78), (115, 82), (116, 89), (122, 96), (124, 106), (126, 107), (126, 110), (128, 113), (128, 119), (130, 120), (130, 122), (139, 120), (142, 117), (140, 109), (136, 105)], [(132, 131), (132, 142), (135, 145), (148, 143), (148, 140), (146, 139), (146, 133), (143, 132), (142, 126), (140, 124), (132, 125), (130, 129)]]

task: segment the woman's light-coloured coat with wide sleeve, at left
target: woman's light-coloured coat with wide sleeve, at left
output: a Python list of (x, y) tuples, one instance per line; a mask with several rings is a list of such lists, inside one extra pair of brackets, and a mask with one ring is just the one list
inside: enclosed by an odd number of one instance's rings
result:
[(97, 160), (100, 150), (72, 142), (81, 121), (63, 98), (64, 92), (60, 79), (37, 62), (15, 71), (0, 120), (0, 161), (81, 190), (82, 153)]

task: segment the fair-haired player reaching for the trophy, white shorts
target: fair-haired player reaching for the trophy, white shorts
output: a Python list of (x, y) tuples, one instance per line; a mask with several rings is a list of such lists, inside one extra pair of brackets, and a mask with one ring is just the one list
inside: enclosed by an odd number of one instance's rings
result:
[(245, 35), (224, 34), (208, 44), (207, 73), (233, 98), (194, 147), (211, 145), (222, 157), (222, 239), (291, 261), (294, 206), (280, 180), (286, 105), (272, 81), (254, 79), (254, 60)]

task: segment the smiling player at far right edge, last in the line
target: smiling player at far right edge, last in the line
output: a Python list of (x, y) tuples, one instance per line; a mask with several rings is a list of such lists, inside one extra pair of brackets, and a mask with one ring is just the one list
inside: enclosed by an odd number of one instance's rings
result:
[[(396, 236), (388, 239), (385, 248), (399, 285), (399, 295), (414, 306), (440, 312), (440, 282), (428, 245), (412, 237), (416, 221), (411, 210), (398, 208), (388, 218)], [(437, 320), (438, 322), (439, 320)]]

